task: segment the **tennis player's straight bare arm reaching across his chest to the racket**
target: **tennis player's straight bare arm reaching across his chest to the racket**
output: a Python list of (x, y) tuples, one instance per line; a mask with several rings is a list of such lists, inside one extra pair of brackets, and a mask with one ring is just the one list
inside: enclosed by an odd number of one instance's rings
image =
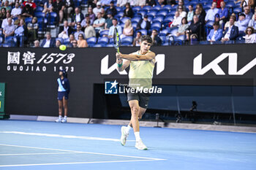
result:
[(116, 57), (129, 61), (151, 61), (156, 57), (156, 54), (153, 52), (146, 53), (145, 55), (116, 53)]

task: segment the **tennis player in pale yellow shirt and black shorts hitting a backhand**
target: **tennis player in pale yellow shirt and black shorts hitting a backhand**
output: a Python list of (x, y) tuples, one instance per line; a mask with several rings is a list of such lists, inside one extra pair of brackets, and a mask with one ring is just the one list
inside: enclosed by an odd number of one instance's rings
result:
[[(155, 53), (149, 49), (152, 44), (150, 36), (143, 35), (140, 37), (140, 50), (131, 54), (116, 53), (116, 63), (118, 71), (123, 71), (129, 66), (129, 88), (151, 88), (152, 77), (155, 64)], [(139, 120), (146, 112), (149, 101), (149, 93), (132, 93), (129, 90), (127, 93), (127, 101), (131, 109), (132, 117), (129, 125), (121, 127), (120, 142), (124, 146), (129, 136), (129, 131), (133, 128), (136, 144), (138, 150), (147, 150), (145, 144), (140, 139), (140, 125)]]

